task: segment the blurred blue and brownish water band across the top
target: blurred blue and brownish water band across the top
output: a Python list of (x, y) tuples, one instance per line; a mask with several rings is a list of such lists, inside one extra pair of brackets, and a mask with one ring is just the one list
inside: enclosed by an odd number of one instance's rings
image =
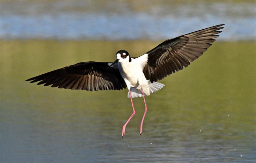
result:
[(1, 39), (170, 39), (226, 24), (220, 40), (255, 40), (255, 1), (3, 1)]

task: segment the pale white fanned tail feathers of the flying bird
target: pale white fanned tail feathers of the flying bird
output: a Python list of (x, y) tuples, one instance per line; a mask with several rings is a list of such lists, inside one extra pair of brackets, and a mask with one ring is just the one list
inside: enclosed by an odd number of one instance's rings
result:
[[(151, 83), (150, 81), (149, 81), (149, 83), (150, 83), (148, 85), (149, 93), (146, 94), (146, 95), (149, 95), (150, 93), (156, 92), (159, 89), (164, 87), (164, 84), (162, 84), (162, 83), (158, 83), (158, 82)], [(142, 92), (140, 90), (136, 89), (136, 88), (131, 87), (131, 95), (132, 95), (132, 98), (142, 97)], [(127, 97), (130, 98), (129, 92), (127, 94)]]

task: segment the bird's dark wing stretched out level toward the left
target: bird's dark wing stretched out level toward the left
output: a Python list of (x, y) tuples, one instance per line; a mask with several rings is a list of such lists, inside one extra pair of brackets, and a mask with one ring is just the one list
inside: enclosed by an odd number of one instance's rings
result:
[[(117, 67), (108, 62), (81, 62), (27, 79), (44, 86), (72, 90), (120, 90), (126, 88)], [(42, 81), (41, 81), (42, 80)]]

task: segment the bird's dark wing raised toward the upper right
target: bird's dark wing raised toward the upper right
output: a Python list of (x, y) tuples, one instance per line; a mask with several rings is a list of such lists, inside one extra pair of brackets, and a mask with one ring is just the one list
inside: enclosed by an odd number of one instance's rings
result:
[(148, 51), (148, 61), (143, 73), (146, 79), (153, 81), (182, 70), (197, 59), (210, 47), (219, 35), (224, 24), (188, 33), (169, 39)]

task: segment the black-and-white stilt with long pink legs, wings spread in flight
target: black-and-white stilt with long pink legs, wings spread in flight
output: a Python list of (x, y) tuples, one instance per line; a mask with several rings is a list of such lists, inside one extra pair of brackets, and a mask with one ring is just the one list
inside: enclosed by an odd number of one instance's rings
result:
[(210, 47), (217, 38), (224, 24), (205, 28), (196, 32), (181, 35), (159, 44), (147, 53), (133, 58), (125, 50), (116, 53), (117, 60), (111, 62), (81, 62), (27, 79), (30, 83), (40, 81), (44, 86), (72, 90), (120, 90), (128, 88), (128, 98), (131, 99), (133, 113), (123, 125), (125, 127), (135, 115), (132, 98), (143, 97), (145, 112), (140, 123), (140, 134), (147, 113), (144, 95), (149, 95), (161, 88), (158, 80), (182, 70), (190, 62), (197, 59)]

